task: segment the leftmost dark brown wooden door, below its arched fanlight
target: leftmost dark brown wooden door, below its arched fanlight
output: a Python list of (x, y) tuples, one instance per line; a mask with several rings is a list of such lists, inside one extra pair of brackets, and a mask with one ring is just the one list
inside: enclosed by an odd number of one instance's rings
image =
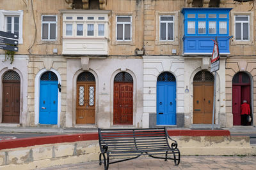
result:
[(20, 82), (3, 82), (3, 123), (19, 124)]

